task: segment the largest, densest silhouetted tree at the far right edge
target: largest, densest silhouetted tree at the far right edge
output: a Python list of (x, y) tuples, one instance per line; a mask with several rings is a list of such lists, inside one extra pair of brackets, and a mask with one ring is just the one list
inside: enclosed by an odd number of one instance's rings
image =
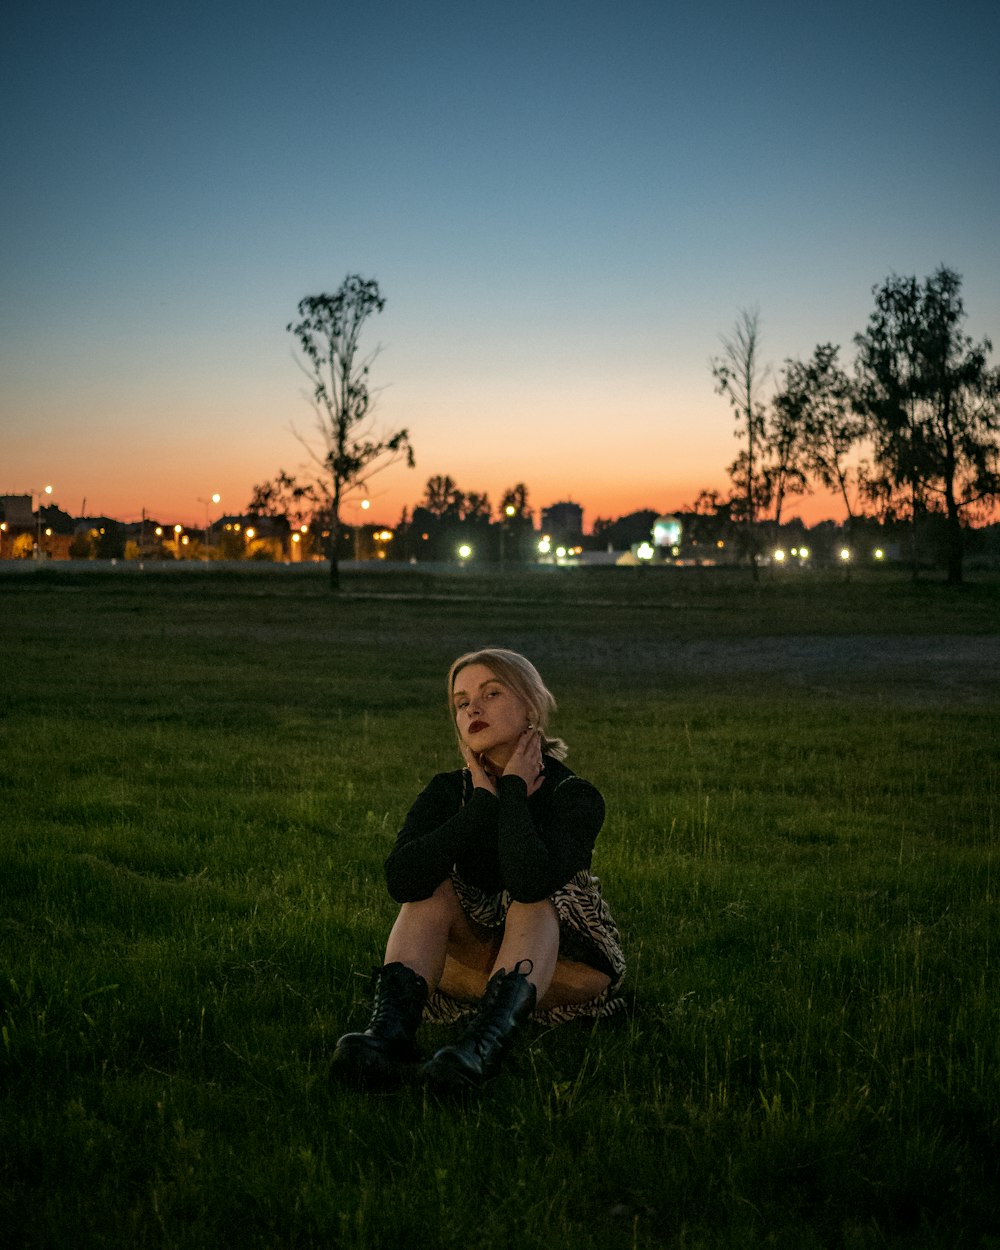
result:
[[(914, 534), (929, 504), (948, 524), (948, 580), (962, 580), (962, 522), (1000, 494), (1000, 370), (962, 330), (961, 278), (891, 276), (858, 346), (858, 406), (886, 489), (909, 495)], [(914, 574), (918, 561), (914, 544)]]

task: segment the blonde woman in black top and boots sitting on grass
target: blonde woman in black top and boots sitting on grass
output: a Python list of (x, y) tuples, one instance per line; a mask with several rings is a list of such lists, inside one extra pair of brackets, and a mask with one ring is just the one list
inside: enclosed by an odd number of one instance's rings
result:
[(532, 1016), (604, 1016), (625, 960), (600, 882), (590, 875), (604, 821), (598, 790), (549, 738), (555, 700), (515, 651), (462, 655), (448, 696), (466, 766), (418, 796), (385, 864), (401, 904), (365, 1032), (338, 1041), (331, 1071), (385, 1081), (419, 1061), (421, 1019), (471, 1015), (421, 1074), (444, 1089), (496, 1074)]

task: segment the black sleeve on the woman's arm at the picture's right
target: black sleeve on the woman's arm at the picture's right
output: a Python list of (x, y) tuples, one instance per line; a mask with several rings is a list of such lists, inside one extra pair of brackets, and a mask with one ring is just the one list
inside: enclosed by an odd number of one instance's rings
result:
[(604, 824), (604, 799), (589, 781), (574, 776), (558, 786), (539, 825), (521, 778), (500, 778), (498, 798), (500, 875), (512, 899), (548, 899), (576, 872), (590, 868)]

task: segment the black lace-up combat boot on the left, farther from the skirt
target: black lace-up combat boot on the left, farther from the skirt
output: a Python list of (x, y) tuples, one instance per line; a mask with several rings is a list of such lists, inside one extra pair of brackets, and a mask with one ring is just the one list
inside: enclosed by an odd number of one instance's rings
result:
[(385, 1084), (420, 1059), (416, 1029), (428, 1001), (428, 982), (405, 964), (375, 972), (375, 1002), (364, 1032), (348, 1032), (336, 1044), (330, 1075)]

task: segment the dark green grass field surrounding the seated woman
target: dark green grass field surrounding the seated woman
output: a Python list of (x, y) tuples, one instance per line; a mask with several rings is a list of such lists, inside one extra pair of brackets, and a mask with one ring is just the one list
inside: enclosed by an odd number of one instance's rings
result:
[[(0, 1242), (1000, 1248), (1000, 582), (345, 590), (0, 580)], [(490, 642), (608, 800), (629, 1012), (331, 1088)]]

